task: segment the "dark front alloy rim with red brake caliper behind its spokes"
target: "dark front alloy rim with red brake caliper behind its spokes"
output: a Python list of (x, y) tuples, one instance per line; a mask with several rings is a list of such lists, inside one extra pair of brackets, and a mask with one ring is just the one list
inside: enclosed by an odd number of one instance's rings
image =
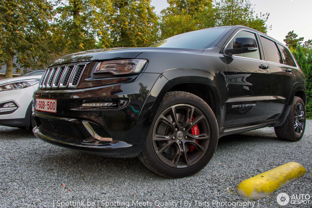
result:
[(158, 117), (153, 129), (153, 147), (158, 158), (174, 168), (198, 162), (207, 151), (210, 125), (197, 107), (178, 104)]

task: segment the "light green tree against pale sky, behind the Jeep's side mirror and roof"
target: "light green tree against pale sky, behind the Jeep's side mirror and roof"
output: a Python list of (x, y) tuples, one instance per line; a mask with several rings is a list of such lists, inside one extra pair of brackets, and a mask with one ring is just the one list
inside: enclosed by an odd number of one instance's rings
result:
[[(216, 3), (217, 26), (244, 25), (266, 33), (269, 13), (254, 15), (249, 0), (221, 0)], [(269, 29), (271, 26), (269, 26)]]

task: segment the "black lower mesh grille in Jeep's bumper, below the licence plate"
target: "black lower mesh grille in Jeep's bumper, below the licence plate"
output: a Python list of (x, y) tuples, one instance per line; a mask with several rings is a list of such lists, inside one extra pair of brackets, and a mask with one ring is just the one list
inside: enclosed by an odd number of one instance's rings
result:
[(52, 120), (41, 117), (37, 117), (37, 120), (46, 131), (63, 136), (82, 137), (80, 131), (78, 131), (77, 127), (70, 121)]

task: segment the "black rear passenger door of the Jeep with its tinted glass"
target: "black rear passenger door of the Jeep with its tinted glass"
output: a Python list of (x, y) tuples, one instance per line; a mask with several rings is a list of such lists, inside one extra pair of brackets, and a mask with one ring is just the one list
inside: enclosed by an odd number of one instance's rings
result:
[(275, 119), (281, 116), (288, 102), (295, 83), (293, 71), (297, 70), (297, 68), (287, 48), (264, 36), (261, 36), (261, 44), (264, 47), (265, 58), (271, 70), (271, 101), (268, 119)]

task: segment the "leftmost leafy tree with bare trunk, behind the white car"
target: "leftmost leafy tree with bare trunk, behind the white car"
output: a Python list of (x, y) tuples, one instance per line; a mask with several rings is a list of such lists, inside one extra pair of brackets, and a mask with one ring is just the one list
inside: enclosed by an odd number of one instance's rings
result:
[(48, 22), (52, 5), (46, 0), (0, 2), (0, 62), (7, 65), (6, 78), (13, 76), (13, 57), (22, 67), (42, 67), (49, 53)]

